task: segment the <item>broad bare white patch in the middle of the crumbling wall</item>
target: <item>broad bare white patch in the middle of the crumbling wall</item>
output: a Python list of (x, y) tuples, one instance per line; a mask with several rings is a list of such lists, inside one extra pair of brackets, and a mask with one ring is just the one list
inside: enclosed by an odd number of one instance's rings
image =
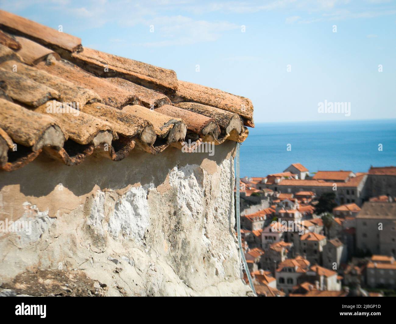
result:
[(147, 189), (131, 187), (114, 206), (114, 214), (110, 216), (109, 233), (115, 239), (143, 239), (149, 225)]

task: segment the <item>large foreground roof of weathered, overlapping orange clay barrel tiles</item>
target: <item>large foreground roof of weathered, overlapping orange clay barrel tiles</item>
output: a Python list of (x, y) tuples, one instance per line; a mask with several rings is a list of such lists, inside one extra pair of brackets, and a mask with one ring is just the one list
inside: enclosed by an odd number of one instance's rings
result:
[[(190, 152), (209, 139), (242, 142), (244, 125), (254, 126), (249, 99), (178, 80), (173, 70), (83, 47), (78, 37), (6, 11), (0, 32), (6, 171), (40, 153), (77, 165), (94, 151), (120, 161), (131, 150), (181, 149), (187, 131), (197, 138)], [(14, 143), (23, 148), (16, 159)]]

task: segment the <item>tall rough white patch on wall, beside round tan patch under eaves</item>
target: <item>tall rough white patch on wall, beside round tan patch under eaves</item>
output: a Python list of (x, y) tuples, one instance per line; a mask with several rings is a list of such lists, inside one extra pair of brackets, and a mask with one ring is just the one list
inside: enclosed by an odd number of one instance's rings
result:
[(204, 188), (194, 174), (197, 165), (174, 167), (169, 172), (169, 184), (177, 190), (177, 203), (183, 214), (200, 218), (204, 211)]

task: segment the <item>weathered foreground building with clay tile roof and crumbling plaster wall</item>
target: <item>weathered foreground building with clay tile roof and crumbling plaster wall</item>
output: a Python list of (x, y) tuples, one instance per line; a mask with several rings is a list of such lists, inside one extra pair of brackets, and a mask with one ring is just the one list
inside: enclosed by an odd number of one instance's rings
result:
[(11, 13), (0, 28), (2, 287), (249, 294), (233, 189), (251, 101)]

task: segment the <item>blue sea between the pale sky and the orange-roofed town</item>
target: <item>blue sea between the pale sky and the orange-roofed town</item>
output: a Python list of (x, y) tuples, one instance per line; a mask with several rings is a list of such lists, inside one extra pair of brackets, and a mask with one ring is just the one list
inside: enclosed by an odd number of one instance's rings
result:
[(249, 129), (241, 146), (241, 177), (282, 172), (292, 163), (310, 172), (396, 166), (396, 119), (258, 123)]

